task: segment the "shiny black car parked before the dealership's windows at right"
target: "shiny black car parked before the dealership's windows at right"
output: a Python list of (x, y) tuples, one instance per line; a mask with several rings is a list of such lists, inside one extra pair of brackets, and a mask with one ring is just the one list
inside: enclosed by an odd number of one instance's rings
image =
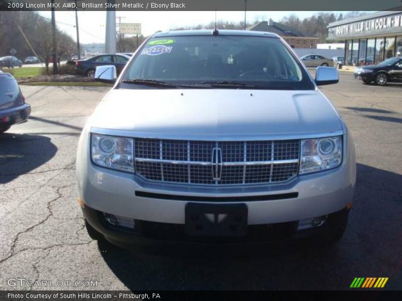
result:
[(402, 81), (402, 57), (390, 58), (378, 65), (356, 68), (354, 76), (366, 84), (374, 82), (379, 86), (387, 82)]

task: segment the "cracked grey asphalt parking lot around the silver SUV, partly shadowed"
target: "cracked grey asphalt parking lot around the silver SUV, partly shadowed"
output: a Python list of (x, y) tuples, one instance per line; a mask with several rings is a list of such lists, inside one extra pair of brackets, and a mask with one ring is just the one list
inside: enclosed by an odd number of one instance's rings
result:
[[(354, 277), (389, 277), (386, 289), (402, 289), (402, 84), (340, 76), (322, 91), (355, 140), (346, 233), (331, 247), (303, 244), (255, 257), (165, 256), (92, 241), (76, 202), (75, 152), (109, 88), (22, 86), (32, 116), (0, 135), (0, 289), (347, 289)], [(20, 287), (9, 286), (10, 278), (97, 285)]]

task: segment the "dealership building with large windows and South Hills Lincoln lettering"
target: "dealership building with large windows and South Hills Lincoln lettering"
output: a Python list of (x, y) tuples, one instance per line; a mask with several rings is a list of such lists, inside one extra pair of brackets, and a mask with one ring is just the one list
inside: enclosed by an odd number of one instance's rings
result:
[(402, 56), (402, 11), (367, 14), (328, 25), (328, 40), (345, 44), (344, 64), (378, 64)]

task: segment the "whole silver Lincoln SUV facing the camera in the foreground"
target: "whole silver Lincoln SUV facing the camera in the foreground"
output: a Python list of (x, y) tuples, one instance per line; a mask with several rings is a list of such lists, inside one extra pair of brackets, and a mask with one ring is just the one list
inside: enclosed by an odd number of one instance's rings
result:
[(76, 173), (89, 235), (116, 245), (341, 238), (352, 137), (275, 34), (156, 33), (82, 130)]

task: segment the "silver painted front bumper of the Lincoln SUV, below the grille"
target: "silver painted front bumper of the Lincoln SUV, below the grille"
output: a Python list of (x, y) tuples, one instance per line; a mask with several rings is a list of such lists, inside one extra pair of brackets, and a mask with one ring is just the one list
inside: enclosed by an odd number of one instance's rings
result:
[(93, 165), (88, 145), (89, 135), (84, 129), (76, 161), (82, 203), (126, 218), (183, 225), (187, 203), (240, 202), (247, 205), (248, 225), (275, 224), (328, 215), (349, 206), (353, 199), (356, 164), (350, 134), (344, 135), (343, 161), (338, 168), (298, 176), (287, 183), (249, 187), (211, 188), (144, 181), (133, 174)]

